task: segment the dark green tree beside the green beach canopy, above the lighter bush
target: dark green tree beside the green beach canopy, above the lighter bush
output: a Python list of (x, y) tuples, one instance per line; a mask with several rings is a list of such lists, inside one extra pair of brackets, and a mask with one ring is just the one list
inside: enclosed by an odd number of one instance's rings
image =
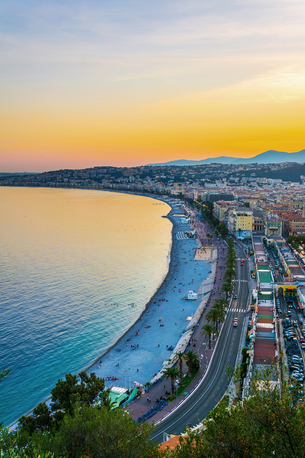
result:
[(91, 372), (90, 376), (85, 371), (79, 373), (80, 379), (76, 375), (66, 374), (65, 380), (59, 379), (55, 387), (51, 390), (54, 410), (64, 409), (71, 411), (76, 401), (80, 400), (88, 406), (93, 406), (95, 402), (101, 402), (105, 388), (105, 380), (97, 377)]

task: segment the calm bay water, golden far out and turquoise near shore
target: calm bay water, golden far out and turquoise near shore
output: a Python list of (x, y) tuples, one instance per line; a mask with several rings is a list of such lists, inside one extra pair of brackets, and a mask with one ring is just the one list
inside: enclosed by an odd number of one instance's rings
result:
[(85, 369), (139, 316), (168, 268), (170, 207), (155, 202), (0, 187), (0, 368), (11, 369), (0, 422)]

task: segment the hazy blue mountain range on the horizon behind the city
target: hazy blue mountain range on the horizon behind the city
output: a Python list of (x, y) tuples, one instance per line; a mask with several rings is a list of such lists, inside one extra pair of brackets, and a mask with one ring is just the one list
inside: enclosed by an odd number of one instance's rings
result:
[(219, 156), (217, 158), (207, 158), (201, 161), (189, 161), (178, 159), (177, 161), (163, 162), (160, 164), (146, 165), (200, 165), (200, 164), (278, 164), (280, 162), (305, 162), (305, 149), (297, 153), (286, 153), (285, 151), (275, 151), (269, 149), (264, 153), (257, 154), (253, 158), (233, 158), (229, 156)]

